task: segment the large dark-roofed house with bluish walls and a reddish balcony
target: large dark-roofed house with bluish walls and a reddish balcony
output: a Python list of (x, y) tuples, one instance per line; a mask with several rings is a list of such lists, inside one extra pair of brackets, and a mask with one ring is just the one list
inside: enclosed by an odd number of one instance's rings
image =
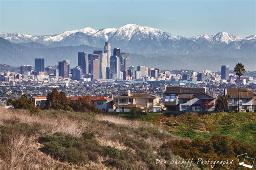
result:
[(169, 111), (214, 111), (215, 98), (206, 94), (205, 89), (166, 87), (165, 107)]

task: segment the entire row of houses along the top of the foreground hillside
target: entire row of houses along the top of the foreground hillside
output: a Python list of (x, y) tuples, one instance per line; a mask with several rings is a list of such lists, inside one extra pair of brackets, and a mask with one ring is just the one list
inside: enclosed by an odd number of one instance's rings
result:
[[(228, 111), (236, 111), (238, 108), (238, 89), (228, 88), (225, 95), (230, 96)], [(69, 100), (77, 100), (79, 97), (68, 97)], [(159, 96), (149, 93), (131, 93), (106, 98), (103, 96), (90, 97), (91, 103), (95, 104), (103, 112), (129, 112), (136, 107), (145, 112), (156, 113), (163, 108), (177, 112), (212, 112), (215, 110), (216, 98), (206, 93), (204, 88), (166, 87), (164, 103), (159, 103)], [(30, 97), (36, 106), (43, 109), (46, 97)], [(240, 89), (240, 111), (256, 112), (256, 93), (252, 89)]]

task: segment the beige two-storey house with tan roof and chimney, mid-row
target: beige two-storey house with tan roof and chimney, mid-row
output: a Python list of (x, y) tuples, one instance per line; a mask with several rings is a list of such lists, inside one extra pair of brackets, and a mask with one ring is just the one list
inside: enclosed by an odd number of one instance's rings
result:
[(114, 104), (116, 112), (129, 112), (132, 107), (158, 112), (161, 108), (158, 106), (158, 96), (149, 93), (131, 93), (130, 90), (127, 91), (127, 94), (114, 97)]

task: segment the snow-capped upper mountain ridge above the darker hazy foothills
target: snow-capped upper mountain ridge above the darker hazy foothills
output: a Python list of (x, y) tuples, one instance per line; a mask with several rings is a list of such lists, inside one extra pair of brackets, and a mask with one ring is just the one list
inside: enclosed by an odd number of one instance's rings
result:
[(237, 50), (242, 47), (242, 44), (253, 43), (256, 39), (255, 35), (242, 39), (227, 32), (185, 38), (172, 35), (160, 29), (136, 24), (99, 30), (87, 27), (80, 30), (65, 31), (53, 36), (0, 33), (0, 37), (12, 43), (36, 42), (49, 47), (78, 45), (103, 47), (104, 42), (107, 40), (111, 43), (112, 47), (121, 47), (123, 51), (127, 52), (172, 53), (174, 55), (194, 55), (205, 52), (218, 53), (227, 48), (229, 50)]

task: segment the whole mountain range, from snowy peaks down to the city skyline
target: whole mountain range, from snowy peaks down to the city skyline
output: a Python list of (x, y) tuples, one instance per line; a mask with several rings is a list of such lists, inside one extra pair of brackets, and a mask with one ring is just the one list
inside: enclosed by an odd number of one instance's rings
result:
[[(213, 69), (220, 65), (242, 62), (256, 70), (256, 35), (239, 38), (227, 32), (190, 38), (163, 30), (127, 24), (120, 28), (65, 31), (59, 35), (32, 36), (22, 33), (0, 33), (0, 59), (9, 65), (31, 64), (36, 57), (46, 64), (70, 59), (77, 63), (77, 52), (103, 49), (105, 41), (131, 53), (131, 64), (162, 69)], [(13, 60), (22, 60), (14, 63)], [(1, 62), (2, 63), (2, 62)], [(3, 64), (3, 63), (2, 63)]]

